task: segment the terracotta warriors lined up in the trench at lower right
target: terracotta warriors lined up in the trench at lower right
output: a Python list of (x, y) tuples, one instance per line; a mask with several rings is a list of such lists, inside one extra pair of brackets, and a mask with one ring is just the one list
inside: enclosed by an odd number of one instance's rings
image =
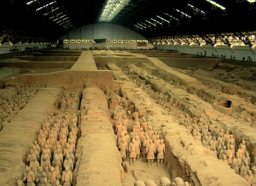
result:
[(224, 132), (215, 122), (210, 123), (204, 115), (201, 115), (199, 119), (190, 118), (188, 114), (180, 115), (179, 123), (184, 125), (192, 133), (194, 139), (212, 151), (220, 161), (229, 164), (236, 174), (240, 174), (249, 184), (253, 182), (256, 176), (256, 158), (251, 163), (244, 140), (236, 150), (233, 135), (229, 131)]

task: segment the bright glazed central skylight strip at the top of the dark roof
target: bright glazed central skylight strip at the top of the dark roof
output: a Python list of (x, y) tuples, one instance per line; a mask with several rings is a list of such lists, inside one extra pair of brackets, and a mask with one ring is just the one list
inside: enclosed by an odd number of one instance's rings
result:
[(110, 22), (131, 0), (107, 0), (100, 22)]

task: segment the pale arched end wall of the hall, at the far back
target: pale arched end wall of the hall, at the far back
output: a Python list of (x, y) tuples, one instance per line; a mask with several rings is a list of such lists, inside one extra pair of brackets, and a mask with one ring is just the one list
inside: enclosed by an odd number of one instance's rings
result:
[[(111, 40), (111, 43), (89, 43), (88, 40), (94, 39), (107, 39)], [(69, 49), (81, 49), (90, 47), (122, 47), (125, 49), (151, 49), (154, 47), (151, 43), (147, 43), (146, 46), (141, 47), (137, 45), (137, 40), (143, 41), (147, 40), (142, 35), (119, 25), (111, 23), (94, 23), (90, 25), (85, 25), (78, 27), (65, 35), (62, 35), (58, 40), (63, 40), (64, 48)], [(65, 41), (68, 40), (68, 41)], [(81, 40), (75, 41), (72, 43), (71, 40)], [(83, 40), (87, 40), (87, 43), (83, 43)], [(122, 40), (123, 43), (113, 43), (113, 40)], [(128, 43), (125, 43), (125, 40), (128, 40)], [(134, 40), (134, 43), (130, 43), (130, 40)], [(67, 43), (68, 42), (68, 43)], [(74, 41), (73, 41), (74, 42)], [(77, 43), (80, 42), (80, 43)]]

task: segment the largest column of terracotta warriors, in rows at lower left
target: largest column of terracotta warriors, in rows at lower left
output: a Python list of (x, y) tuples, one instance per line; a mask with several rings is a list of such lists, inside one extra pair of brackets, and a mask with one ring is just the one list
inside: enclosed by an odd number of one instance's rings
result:
[[(72, 100), (73, 105), (64, 100)], [(71, 186), (76, 163), (79, 92), (66, 92), (60, 109), (44, 120), (26, 159), (22, 181), (27, 186)]]

